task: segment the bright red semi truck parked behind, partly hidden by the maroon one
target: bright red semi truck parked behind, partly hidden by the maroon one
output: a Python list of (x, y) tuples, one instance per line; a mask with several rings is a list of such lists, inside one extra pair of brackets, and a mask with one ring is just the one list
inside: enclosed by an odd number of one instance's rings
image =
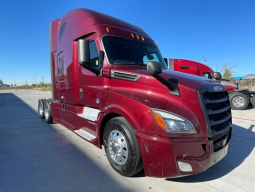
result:
[[(168, 61), (165, 59), (166, 63)], [(214, 72), (210, 67), (196, 61), (186, 59), (169, 59), (168, 69), (188, 73), (192, 75), (201, 76), (207, 79), (216, 79), (221, 83), (229, 93), (230, 106), (235, 110), (246, 109), (248, 105), (255, 108), (255, 91), (248, 89), (238, 89), (238, 85), (222, 79), (219, 72)]]

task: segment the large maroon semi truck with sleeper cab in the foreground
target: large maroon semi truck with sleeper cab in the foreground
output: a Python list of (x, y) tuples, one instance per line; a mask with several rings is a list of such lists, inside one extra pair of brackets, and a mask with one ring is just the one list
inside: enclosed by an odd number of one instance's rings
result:
[(50, 24), (52, 98), (38, 113), (102, 148), (112, 168), (132, 176), (205, 171), (229, 149), (226, 89), (167, 69), (139, 27), (88, 9)]

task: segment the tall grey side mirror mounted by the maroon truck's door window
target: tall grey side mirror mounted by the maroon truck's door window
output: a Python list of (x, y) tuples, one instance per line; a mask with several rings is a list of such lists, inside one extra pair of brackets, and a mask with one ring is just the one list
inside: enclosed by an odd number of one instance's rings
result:
[(84, 67), (90, 63), (89, 41), (86, 39), (78, 40), (78, 61)]

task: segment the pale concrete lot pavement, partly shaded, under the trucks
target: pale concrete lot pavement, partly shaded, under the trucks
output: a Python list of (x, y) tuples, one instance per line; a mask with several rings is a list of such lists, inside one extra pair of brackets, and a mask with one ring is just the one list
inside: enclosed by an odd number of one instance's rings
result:
[(37, 115), (50, 92), (0, 91), (0, 192), (255, 191), (255, 109), (232, 111), (228, 154), (203, 173), (182, 178), (123, 177), (98, 149)]

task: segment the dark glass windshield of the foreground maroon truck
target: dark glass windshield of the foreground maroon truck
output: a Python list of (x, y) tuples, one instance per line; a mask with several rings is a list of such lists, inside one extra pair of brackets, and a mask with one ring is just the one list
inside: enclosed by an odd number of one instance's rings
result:
[(157, 61), (163, 69), (167, 68), (156, 46), (115, 36), (103, 37), (103, 43), (111, 64), (146, 65), (148, 61)]

